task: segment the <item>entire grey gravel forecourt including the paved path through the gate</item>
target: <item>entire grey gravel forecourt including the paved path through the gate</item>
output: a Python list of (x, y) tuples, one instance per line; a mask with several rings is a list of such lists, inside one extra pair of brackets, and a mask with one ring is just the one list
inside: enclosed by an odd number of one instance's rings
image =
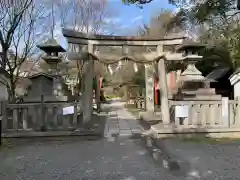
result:
[(139, 135), (141, 126), (114, 102), (105, 138), (35, 142), (0, 152), (0, 180), (232, 180), (240, 179), (240, 143), (203, 144), (166, 140), (164, 145), (189, 161), (187, 176), (156, 164)]

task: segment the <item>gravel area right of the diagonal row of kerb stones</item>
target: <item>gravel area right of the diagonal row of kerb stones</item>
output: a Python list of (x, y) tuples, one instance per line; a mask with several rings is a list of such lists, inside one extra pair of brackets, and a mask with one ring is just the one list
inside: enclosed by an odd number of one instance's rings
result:
[(162, 140), (177, 159), (188, 161), (189, 174), (199, 179), (240, 179), (240, 142)]

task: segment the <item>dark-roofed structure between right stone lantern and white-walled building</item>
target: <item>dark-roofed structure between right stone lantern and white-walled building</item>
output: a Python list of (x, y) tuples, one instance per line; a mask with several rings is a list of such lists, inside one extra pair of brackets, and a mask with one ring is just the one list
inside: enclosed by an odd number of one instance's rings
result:
[(233, 99), (233, 86), (228, 79), (232, 73), (231, 68), (217, 68), (209, 73), (206, 78), (214, 80), (214, 82), (210, 83), (210, 87), (215, 88), (216, 94)]

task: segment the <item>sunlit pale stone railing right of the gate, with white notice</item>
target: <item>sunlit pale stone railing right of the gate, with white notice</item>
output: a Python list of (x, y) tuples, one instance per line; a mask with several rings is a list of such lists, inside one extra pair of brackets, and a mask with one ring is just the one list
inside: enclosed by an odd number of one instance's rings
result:
[(223, 107), (222, 101), (169, 101), (171, 123), (183, 128), (239, 128), (239, 102), (229, 100)]

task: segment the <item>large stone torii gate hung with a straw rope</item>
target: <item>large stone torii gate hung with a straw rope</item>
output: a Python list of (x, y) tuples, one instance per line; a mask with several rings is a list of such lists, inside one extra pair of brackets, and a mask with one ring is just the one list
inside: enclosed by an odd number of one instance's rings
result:
[[(85, 77), (85, 89), (83, 96), (83, 122), (91, 119), (92, 113), (92, 82), (94, 76), (94, 60), (101, 63), (112, 64), (127, 59), (136, 63), (144, 63), (146, 79), (146, 106), (147, 111), (154, 111), (153, 98), (153, 62), (158, 62), (159, 87), (161, 92), (161, 112), (164, 124), (170, 123), (170, 113), (168, 104), (168, 88), (166, 78), (166, 61), (182, 60), (182, 54), (164, 52), (164, 45), (181, 45), (185, 37), (165, 37), (165, 38), (146, 38), (140, 36), (109, 36), (109, 35), (87, 35), (74, 30), (63, 29), (63, 36), (67, 38), (69, 44), (78, 47), (78, 53), (69, 53), (68, 58), (71, 60), (86, 60), (88, 76)], [(102, 52), (103, 46), (120, 47), (121, 54)], [(131, 47), (155, 48), (155, 51), (139, 51), (129, 54)]]

